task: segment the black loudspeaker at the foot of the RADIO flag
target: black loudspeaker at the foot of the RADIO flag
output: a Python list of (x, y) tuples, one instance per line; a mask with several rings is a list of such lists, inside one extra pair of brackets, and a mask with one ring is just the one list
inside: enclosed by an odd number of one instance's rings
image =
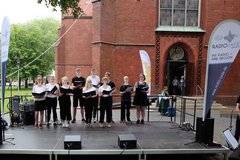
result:
[(203, 142), (205, 144), (213, 143), (213, 134), (214, 119), (206, 118), (203, 122), (201, 117), (197, 117), (196, 142)]

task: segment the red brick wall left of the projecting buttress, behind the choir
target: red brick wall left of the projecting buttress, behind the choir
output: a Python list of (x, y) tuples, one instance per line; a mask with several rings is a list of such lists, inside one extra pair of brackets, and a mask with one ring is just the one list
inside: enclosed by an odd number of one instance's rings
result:
[(55, 68), (58, 80), (65, 75), (71, 79), (75, 76), (77, 67), (86, 77), (92, 68), (92, 4), (81, 0), (80, 6), (85, 8), (85, 14), (80, 19), (75, 21), (71, 17), (63, 17), (62, 20), (60, 36), (71, 26), (72, 28), (60, 40), (56, 49)]

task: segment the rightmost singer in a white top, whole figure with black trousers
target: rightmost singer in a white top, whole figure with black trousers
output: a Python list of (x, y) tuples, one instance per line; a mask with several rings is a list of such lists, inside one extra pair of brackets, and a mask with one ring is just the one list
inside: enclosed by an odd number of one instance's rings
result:
[(112, 99), (111, 99), (112, 89), (109, 85), (107, 85), (107, 83), (108, 83), (107, 77), (102, 78), (102, 83), (103, 83), (103, 85), (98, 90), (98, 94), (100, 97), (100, 121), (99, 121), (100, 124), (99, 124), (99, 126), (100, 126), (100, 128), (103, 127), (104, 116), (105, 116), (105, 112), (106, 112), (107, 123), (108, 123), (108, 127), (110, 128), (110, 127), (112, 127), (110, 124), (112, 121)]

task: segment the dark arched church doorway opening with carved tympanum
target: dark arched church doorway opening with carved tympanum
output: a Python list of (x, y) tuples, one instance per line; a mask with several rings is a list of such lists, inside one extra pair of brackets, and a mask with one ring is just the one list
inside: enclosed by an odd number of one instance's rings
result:
[[(177, 95), (180, 95), (180, 88), (175, 88), (174, 93), (173, 83), (175, 82), (175, 78), (177, 78), (177, 80), (180, 82), (181, 76), (183, 76), (185, 83), (188, 81), (188, 64), (188, 55), (186, 53), (186, 50), (180, 44), (173, 45), (169, 49), (167, 56), (167, 85), (169, 88), (169, 93), (171, 95), (175, 93)], [(185, 91), (185, 95), (189, 94), (187, 88), (185, 88)]]

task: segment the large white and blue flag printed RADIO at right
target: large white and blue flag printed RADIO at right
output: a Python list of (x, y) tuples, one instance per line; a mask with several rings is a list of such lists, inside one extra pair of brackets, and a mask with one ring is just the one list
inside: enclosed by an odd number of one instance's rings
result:
[(210, 114), (212, 102), (240, 49), (240, 22), (225, 20), (210, 37), (207, 55), (203, 120)]

